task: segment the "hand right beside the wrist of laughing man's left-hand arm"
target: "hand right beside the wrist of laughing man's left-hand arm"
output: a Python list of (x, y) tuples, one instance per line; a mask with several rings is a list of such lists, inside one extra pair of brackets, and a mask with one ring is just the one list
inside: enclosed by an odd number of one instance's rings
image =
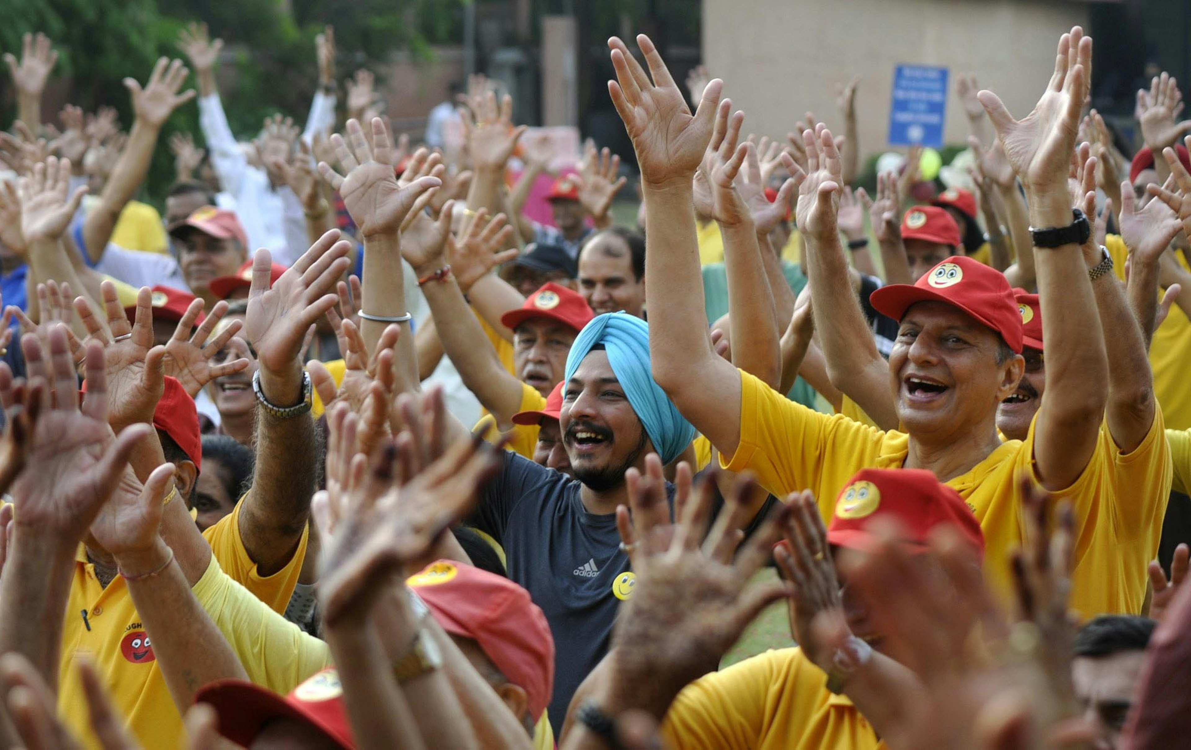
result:
[(715, 130), (698, 171), (694, 173), (694, 207), (724, 226), (736, 226), (752, 218), (735, 181), (744, 164), (750, 143), (737, 148), (744, 113), (729, 118), (732, 102), (724, 99), (716, 110)]

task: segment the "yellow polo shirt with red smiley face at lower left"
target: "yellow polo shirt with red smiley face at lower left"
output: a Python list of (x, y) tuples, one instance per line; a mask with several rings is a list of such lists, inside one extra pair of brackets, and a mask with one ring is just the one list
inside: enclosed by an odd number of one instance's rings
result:
[[(255, 601), (255, 605), (251, 601), (248, 605), (255, 608), (257, 618), (273, 618), (285, 623), (285, 618), (279, 612), (285, 612), (289, 596), (293, 594), (294, 583), (301, 573), (308, 532), (303, 533), (298, 551), (286, 568), (275, 575), (261, 577), (256, 573), (256, 565), (248, 557), (248, 551), (244, 550), (244, 543), (239, 536), (238, 519), (242, 506), (243, 502), (237, 504), (232, 513), (202, 532), (202, 536), (211, 543), (213, 552), (212, 567), (204, 574), (204, 580), (208, 575), (214, 575), (212, 570), (218, 571), (220, 567), (226, 568), (227, 574), (220, 573), (219, 575), (231, 582), (235, 582), (232, 579), (236, 579), (248, 587), (245, 589), (241, 586), (241, 589), (245, 592), (244, 595)], [(200, 594), (202, 582), (200, 580), (195, 585), (195, 595)], [(241, 598), (243, 599), (244, 595)], [(225, 604), (212, 608), (202, 601), (202, 596), (199, 596), (199, 601), (204, 604), (204, 608), (212, 615), (216, 624), (222, 625), (220, 630), (226, 635), (229, 627), (225, 625), (227, 620), (235, 621), (237, 610), (229, 608)], [(186, 746), (182, 718), (174, 706), (173, 698), (170, 698), (166, 679), (155, 663), (151, 643), (145, 635), (141, 615), (137, 614), (124, 579), (116, 576), (107, 585), (107, 588), (101, 587), (95, 576), (95, 567), (87, 561), (87, 551), (82, 545), (75, 556), (74, 580), (70, 586), (67, 613), (62, 631), (62, 660), (58, 665), (58, 715), (75, 737), (83, 738), (83, 743), (88, 748), (99, 746), (92, 735), (87, 700), (71, 658), (74, 654), (87, 652), (99, 669), (112, 704), (124, 715), (127, 729), (141, 743), (141, 746)], [(224, 623), (220, 623), (220, 619)], [(298, 630), (297, 626), (293, 627)], [(236, 654), (254, 680), (278, 674), (275, 665), (272, 669), (262, 669), (262, 665), (267, 667), (270, 660), (276, 662), (281, 657), (262, 652), (260, 649), (252, 648), (251, 644), (244, 648), (236, 648), (236, 645), (232, 644)], [(283, 660), (287, 662), (295, 661), (295, 658), (292, 648), (283, 654)], [(289, 688), (280, 689), (275, 687), (279, 685), (275, 680), (266, 680), (261, 683), (268, 685), (280, 693), (286, 693), (298, 685), (294, 682)]]

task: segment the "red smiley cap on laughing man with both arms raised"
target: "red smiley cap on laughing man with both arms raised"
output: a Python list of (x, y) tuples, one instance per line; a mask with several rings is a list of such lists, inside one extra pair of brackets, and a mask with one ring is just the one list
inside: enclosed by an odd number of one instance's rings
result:
[(1012, 288), (1004, 274), (967, 256), (953, 255), (912, 285), (881, 287), (868, 300), (877, 312), (894, 320), (900, 320), (917, 302), (954, 305), (1000, 333), (1010, 349), (1022, 354), (1022, 313)]

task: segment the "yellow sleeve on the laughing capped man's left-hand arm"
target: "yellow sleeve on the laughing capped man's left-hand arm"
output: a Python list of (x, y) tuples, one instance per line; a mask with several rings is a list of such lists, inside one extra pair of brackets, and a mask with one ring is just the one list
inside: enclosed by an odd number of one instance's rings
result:
[[(818, 479), (829, 458), (871, 465), (884, 433), (841, 414), (827, 415), (796, 404), (748, 373), (741, 374), (741, 439), (729, 471), (748, 469), (768, 492), (785, 498), (811, 489), (823, 496)], [(833, 457), (834, 456), (834, 457)], [(830, 495), (834, 498), (834, 488)]]

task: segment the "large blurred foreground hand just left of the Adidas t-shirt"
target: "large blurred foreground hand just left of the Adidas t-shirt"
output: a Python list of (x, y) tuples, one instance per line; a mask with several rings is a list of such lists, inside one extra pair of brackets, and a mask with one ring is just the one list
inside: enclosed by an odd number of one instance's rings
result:
[[(342, 429), (355, 415), (336, 414), (332, 420)], [(320, 529), (335, 529), (319, 576), (329, 625), (367, 617), (376, 598), (388, 590), (393, 574), (411, 573), (406, 568), (463, 518), (499, 467), (498, 449), (482, 440), (459, 440), (403, 483), (399, 465), (410, 458), (409, 445), (386, 440), (373, 451), (366, 470), (351, 471), (337, 499), (330, 498), (330, 490), (316, 496)]]

